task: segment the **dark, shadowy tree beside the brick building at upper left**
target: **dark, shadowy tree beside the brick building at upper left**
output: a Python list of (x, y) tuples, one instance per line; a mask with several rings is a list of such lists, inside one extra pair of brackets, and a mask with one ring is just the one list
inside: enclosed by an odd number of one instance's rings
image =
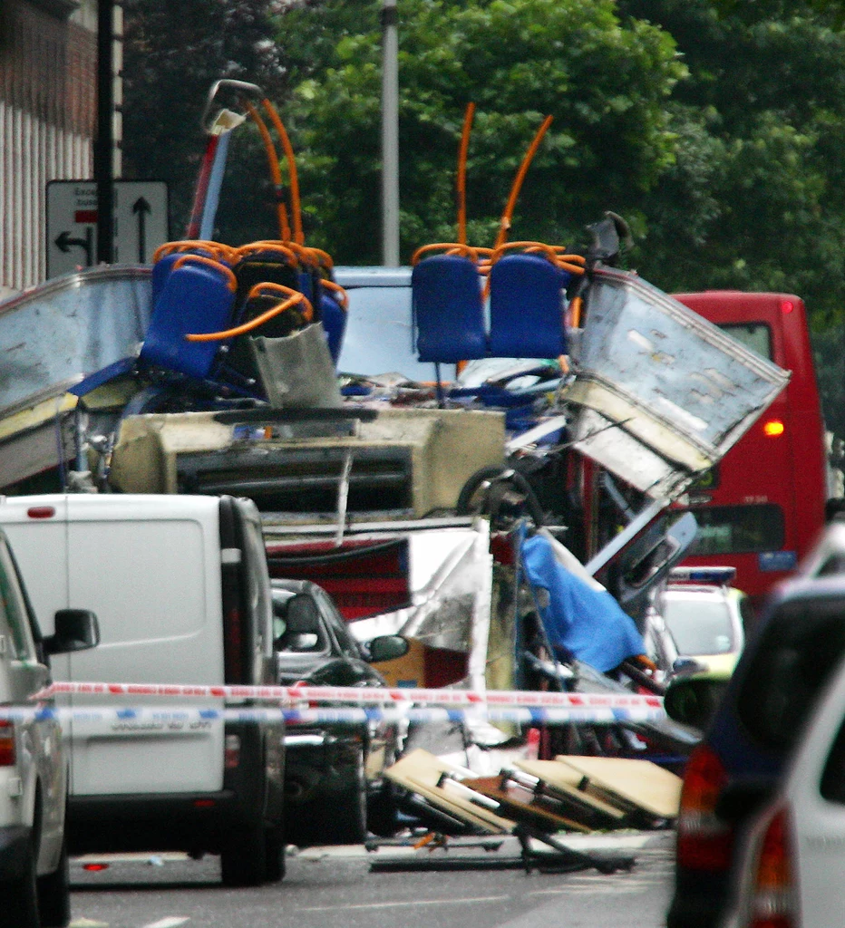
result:
[[(211, 85), (233, 78), (280, 95), (283, 47), (274, 41), (280, 6), (280, 0), (124, 0), (124, 175), (169, 182), (175, 237), (189, 218)], [(239, 243), (257, 229), (272, 231), (255, 135), (242, 131), (233, 139), (220, 210), (221, 236)]]

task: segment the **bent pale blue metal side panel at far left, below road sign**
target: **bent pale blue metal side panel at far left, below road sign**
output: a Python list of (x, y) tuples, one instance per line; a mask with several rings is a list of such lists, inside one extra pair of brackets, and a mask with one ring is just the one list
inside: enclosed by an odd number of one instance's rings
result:
[(150, 320), (150, 268), (89, 268), (0, 303), (0, 416), (52, 384), (134, 354)]

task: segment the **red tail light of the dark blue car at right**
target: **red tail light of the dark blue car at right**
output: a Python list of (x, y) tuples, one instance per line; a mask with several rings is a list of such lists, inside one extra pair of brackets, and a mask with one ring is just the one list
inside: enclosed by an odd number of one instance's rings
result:
[(727, 782), (719, 756), (707, 744), (690, 754), (683, 775), (678, 816), (678, 866), (690, 870), (727, 870), (731, 865), (734, 829), (716, 815), (716, 803)]

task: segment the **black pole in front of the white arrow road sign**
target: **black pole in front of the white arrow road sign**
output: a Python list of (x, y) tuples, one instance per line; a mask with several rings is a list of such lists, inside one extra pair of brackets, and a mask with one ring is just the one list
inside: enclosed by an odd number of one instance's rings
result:
[(113, 260), (114, 179), (114, 0), (97, 3), (97, 140), (94, 180), (97, 182), (97, 263)]

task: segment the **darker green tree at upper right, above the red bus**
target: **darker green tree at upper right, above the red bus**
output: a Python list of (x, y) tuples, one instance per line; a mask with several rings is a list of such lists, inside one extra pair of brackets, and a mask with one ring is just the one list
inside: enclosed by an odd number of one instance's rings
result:
[(667, 290), (845, 303), (845, 35), (832, 3), (619, 0), (675, 37), (675, 162), (643, 197), (642, 273)]

